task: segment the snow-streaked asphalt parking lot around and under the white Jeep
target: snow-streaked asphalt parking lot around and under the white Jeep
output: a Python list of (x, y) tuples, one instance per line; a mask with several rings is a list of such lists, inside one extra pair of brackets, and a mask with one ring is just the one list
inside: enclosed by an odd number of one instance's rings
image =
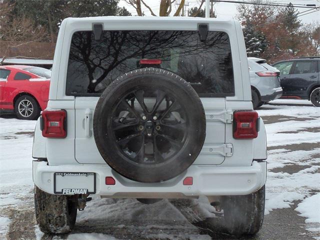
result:
[[(258, 112), (267, 131), (268, 176), (264, 223), (252, 239), (320, 239), (320, 223), (310, 222), (312, 212), (303, 207), (320, 194), (320, 109), (307, 102), (275, 102)], [(28, 152), (34, 122), (17, 126), (17, 119), (4, 117), (1, 159), (11, 157), (15, 167), (1, 163), (1, 239), (237, 239), (223, 233), (220, 219), (212, 217), (212, 207), (202, 198), (144, 205), (135, 199), (93, 197), (78, 212), (72, 234), (41, 233), (34, 217)], [(320, 203), (313, 204), (311, 211), (320, 211)]]

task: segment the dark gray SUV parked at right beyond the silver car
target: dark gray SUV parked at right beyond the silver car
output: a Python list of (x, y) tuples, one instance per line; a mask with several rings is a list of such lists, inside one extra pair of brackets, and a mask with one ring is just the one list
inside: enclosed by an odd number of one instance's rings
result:
[(273, 64), (280, 71), (282, 98), (308, 99), (320, 106), (320, 57), (297, 57)]

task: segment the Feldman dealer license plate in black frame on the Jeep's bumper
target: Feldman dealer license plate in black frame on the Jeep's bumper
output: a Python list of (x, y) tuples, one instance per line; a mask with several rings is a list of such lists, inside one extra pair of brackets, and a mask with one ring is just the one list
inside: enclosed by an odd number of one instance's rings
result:
[(94, 172), (54, 172), (55, 194), (94, 194)]

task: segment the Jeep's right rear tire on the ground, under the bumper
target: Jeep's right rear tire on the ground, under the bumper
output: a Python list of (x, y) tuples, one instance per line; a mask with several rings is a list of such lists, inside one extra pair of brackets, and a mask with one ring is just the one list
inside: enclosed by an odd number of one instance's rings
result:
[(253, 236), (261, 228), (264, 216), (265, 187), (248, 195), (222, 197), (224, 222), (229, 234)]

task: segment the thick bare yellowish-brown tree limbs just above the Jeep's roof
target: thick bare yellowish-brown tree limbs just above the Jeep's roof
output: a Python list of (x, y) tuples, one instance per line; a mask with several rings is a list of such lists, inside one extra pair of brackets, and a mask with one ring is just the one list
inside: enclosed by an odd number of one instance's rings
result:
[[(159, 16), (168, 16), (171, 11), (172, 11), (172, 4), (175, 2), (176, 0), (160, 0), (160, 4), (159, 4)], [(150, 6), (148, 6), (144, 0), (125, 0), (126, 3), (130, 4), (131, 6), (133, 6), (136, 10), (136, 13), (138, 16), (142, 16), (143, 12), (141, 10), (141, 3), (142, 5), (144, 5), (146, 8), (149, 9), (150, 13), (152, 16), (156, 16), (156, 14), (154, 13), (154, 10), (152, 10), (152, 8)], [(194, 15), (197, 15), (203, 5), (203, 2), (201, 0), (201, 3), (199, 4), (198, 7), (198, 11), (194, 13)], [(173, 16), (178, 16), (182, 10), (182, 7), (184, 7), (184, 3), (185, 0), (181, 0), (180, 3), (178, 4), (178, 7), (176, 9), (176, 11), (173, 13)]]

